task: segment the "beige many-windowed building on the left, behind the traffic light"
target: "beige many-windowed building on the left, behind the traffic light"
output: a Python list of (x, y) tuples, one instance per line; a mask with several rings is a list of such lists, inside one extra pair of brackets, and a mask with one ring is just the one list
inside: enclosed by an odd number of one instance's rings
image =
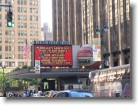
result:
[(6, 23), (9, 8), (0, 7), (0, 67), (6, 65), (7, 69), (13, 69), (30, 65), (30, 45), (34, 40), (41, 40), (40, 0), (0, 0), (0, 4), (9, 2), (13, 27), (7, 27)]

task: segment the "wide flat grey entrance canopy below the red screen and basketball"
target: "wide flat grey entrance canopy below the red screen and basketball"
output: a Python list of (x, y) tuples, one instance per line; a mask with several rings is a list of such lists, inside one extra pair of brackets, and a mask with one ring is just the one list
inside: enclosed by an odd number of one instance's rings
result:
[[(74, 70), (74, 71), (73, 71)], [(58, 77), (88, 77), (89, 72), (92, 70), (84, 69), (64, 69), (53, 71), (53, 69), (41, 69), (40, 74), (35, 73), (35, 69), (23, 69), (16, 72), (7, 73), (5, 75), (6, 78), (58, 78)]]

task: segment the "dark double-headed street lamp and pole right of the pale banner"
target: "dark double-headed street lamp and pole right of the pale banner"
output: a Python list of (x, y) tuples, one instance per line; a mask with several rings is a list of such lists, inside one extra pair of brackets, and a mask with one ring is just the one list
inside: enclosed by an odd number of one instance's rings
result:
[(100, 39), (101, 39), (101, 68), (104, 68), (104, 60), (103, 60), (103, 53), (104, 50), (104, 32), (107, 32), (109, 29), (108, 27), (108, 22), (105, 22), (103, 25), (103, 28), (100, 28), (98, 25), (96, 27), (96, 34), (99, 35), (100, 34)]

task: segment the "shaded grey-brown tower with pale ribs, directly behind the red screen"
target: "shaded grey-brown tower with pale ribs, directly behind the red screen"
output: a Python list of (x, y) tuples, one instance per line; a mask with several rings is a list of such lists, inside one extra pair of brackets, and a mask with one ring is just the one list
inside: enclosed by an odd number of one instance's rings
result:
[(81, 0), (52, 0), (53, 40), (82, 45)]

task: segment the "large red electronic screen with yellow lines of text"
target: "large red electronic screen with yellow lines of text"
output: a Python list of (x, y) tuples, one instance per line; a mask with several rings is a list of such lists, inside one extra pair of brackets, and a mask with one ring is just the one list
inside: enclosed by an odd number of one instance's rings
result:
[(71, 45), (35, 45), (34, 52), (41, 67), (72, 66)]

